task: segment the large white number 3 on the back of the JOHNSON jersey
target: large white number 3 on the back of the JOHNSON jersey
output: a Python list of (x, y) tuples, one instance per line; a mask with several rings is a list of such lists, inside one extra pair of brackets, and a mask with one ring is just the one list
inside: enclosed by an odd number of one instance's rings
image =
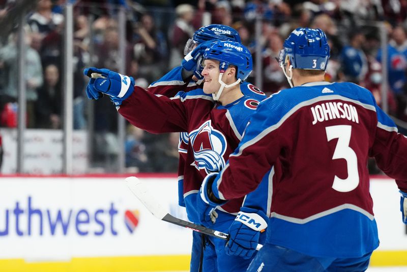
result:
[(352, 126), (337, 125), (325, 128), (328, 142), (338, 139), (332, 159), (346, 160), (347, 178), (341, 179), (335, 175), (332, 188), (338, 192), (350, 192), (359, 184), (358, 158), (355, 151), (349, 147)]

